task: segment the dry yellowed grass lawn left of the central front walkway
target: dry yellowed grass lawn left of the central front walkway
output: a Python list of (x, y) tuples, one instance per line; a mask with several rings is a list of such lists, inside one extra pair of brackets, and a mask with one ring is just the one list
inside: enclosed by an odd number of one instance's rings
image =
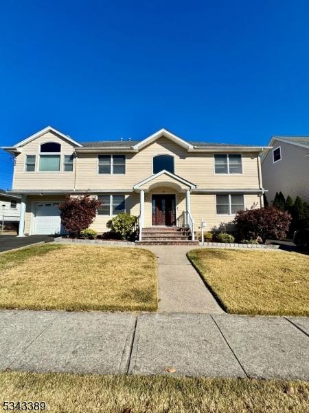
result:
[(156, 310), (156, 257), (139, 248), (54, 244), (1, 254), (0, 307)]

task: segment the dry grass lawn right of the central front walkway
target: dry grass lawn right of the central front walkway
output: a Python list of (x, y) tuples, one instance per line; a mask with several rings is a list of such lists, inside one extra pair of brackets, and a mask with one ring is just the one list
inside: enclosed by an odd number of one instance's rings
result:
[(309, 315), (306, 255), (203, 248), (187, 257), (228, 313)]

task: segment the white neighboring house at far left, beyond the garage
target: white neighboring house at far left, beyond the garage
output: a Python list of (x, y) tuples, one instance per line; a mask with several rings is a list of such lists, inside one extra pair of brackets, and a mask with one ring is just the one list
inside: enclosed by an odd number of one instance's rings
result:
[(21, 197), (0, 189), (0, 233), (2, 226), (18, 224), (21, 215)]

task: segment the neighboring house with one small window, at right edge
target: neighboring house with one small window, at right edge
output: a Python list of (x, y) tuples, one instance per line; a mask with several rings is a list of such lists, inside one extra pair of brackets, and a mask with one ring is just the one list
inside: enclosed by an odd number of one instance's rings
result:
[(309, 136), (273, 136), (262, 156), (263, 184), (272, 202), (276, 192), (309, 202)]

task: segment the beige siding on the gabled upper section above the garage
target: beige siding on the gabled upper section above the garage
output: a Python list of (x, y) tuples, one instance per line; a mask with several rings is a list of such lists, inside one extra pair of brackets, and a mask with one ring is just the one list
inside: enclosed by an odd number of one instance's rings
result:
[[(40, 145), (45, 142), (61, 144), (60, 172), (25, 172), (25, 156), (36, 155), (36, 171), (38, 170), (38, 153)], [(16, 156), (12, 189), (70, 189), (74, 187), (74, 172), (62, 172), (63, 155), (71, 155), (73, 146), (52, 132), (32, 140), (22, 147), (22, 153)]]

